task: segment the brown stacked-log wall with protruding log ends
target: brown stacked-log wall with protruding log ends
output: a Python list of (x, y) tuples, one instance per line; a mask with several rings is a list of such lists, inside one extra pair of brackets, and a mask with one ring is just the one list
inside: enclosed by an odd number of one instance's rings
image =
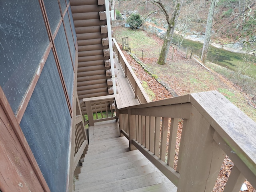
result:
[[(109, 60), (107, 20), (104, 1), (70, 1), (78, 41), (77, 93), (83, 98), (106, 96), (112, 93), (107, 83), (105, 60)], [(102, 40), (104, 39), (104, 40)]]

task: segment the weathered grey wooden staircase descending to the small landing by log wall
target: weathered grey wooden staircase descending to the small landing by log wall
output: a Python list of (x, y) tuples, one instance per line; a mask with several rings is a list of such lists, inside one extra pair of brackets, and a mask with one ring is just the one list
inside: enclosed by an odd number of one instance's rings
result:
[[(89, 145), (84, 158), (75, 191), (177, 191), (176, 186), (139, 150), (129, 150), (126, 137), (115, 135), (114, 132), (119, 130), (118, 124), (115, 124), (117, 126), (112, 123), (111, 126), (105, 124), (90, 127), (89, 135), (94, 137), (94, 141)], [(100, 130), (103, 137), (99, 136)]]

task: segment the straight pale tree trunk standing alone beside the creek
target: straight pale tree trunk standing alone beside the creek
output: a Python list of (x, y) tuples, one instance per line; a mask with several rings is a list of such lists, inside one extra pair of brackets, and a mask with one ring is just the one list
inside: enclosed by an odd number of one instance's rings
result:
[(210, 47), (210, 37), (211, 37), (211, 32), (212, 32), (212, 23), (214, 19), (214, 10), (215, 10), (215, 4), (216, 0), (212, 0), (209, 8), (209, 13), (208, 13), (208, 18), (207, 18), (207, 23), (206, 23), (206, 30), (205, 30), (205, 35), (204, 35), (204, 45), (203, 45), (203, 50), (202, 50), (202, 55), (201, 55), (201, 60), (203, 63), (205, 63), (206, 58), (207, 58), (207, 52)]

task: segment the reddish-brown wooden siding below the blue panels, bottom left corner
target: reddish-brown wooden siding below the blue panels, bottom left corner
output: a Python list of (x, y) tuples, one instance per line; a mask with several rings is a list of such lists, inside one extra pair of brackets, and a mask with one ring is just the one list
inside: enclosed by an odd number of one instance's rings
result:
[(0, 189), (50, 191), (0, 87)]

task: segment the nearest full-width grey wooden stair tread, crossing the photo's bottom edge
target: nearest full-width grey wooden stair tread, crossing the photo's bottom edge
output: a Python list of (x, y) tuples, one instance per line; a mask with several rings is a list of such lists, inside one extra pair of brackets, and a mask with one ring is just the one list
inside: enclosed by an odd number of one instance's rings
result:
[(151, 186), (154, 184), (159, 184), (166, 181), (168, 181), (168, 179), (165, 176), (163, 176), (161, 172), (152, 172), (149, 174), (135, 176), (132, 178), (126, 178), (123, 180), (109, 182), (107, 184), (98, 184), (96, 186), (95, 185), (93, 186), (79, 185), (76, 191), (123, 192), (123, 191), (133, 190), (136, 188), (142, 188), (142, 187)]

